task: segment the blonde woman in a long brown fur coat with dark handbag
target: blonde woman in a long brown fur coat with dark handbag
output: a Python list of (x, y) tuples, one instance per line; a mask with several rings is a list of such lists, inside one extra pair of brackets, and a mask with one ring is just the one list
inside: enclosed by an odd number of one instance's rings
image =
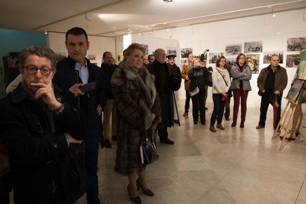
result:
[(128, 176), (128, 191), (134, 203), (141, 203), (136, 185), (145, 195), (154, 195), (146, 184), (146, 165), (139, 164), (139, 147), (144, 130), (150, 128), (155, 140), (155, 128), (161, 121), (154, 76), (142, 67), (144, 54), (145, 50), (140, 44), (132, 43), (125, 50), (124, 60), (111, 80), (118, 130), (115, 172)]

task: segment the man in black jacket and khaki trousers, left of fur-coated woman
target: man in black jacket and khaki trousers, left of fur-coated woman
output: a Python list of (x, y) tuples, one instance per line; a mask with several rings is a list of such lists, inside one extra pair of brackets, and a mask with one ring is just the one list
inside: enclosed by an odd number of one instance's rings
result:
[(111, 148), (112, 144), (109, 139), (109, 127), (110, 127), (110, 116), (112, 116), (112, 140), (117, 140), (117, 128), (116, 128), (116, 106), (113, 97), (113, 91), (111, 89), (110, 80), (112, 79), (115, 67), (112, 65), (113, 55), (110, 52), (103, 53), (103, 63), (101, 69), (103, 72), (104, 79), (106, 81), (107, 95), (106, 105), (103, 111), (103, 135), (105, 139), (105, 147)]

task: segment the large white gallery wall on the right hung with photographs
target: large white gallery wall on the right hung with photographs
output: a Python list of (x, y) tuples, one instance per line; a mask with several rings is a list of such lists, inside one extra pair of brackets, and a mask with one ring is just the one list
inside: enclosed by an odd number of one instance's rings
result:
[[(264, 51), (284, 51), (284, 62), (280, 64), (286, 67), (287, 54), (299, 54), (298, 51), (287, 52), (287, 39), (296, 37), (306, 37), (306, 12), (304, 9), (285, 11), (271, 14), (244, 17), (239, 19), (223, 20), (218, 22), (211, 22), (205, 24), (198, 24), (182, 28), (153, 31), (144, 33), (144, 36), (155, 38), (166, 38), (178, 40), (177, 54), (180, 53), (180, 48), (193, 48), (193, 53), (200, 54), (205, 49), (209, 49), (209, 53), (225, 53), (225, 45), (227, 44), (242, 44), (242, 51), (244, 50), (244, 42), (248, 41), (263, 41)], [(153, 27), (154, 30), (154, 27)], [(144, 38), (144, 36), (140, 36)], [(150, 47), (150, 46), (149, 46)], [(162, 45), (161, 45), (162, 47)], [(165, 47), (165, 46), (163, 46)], [(163, 48), (162, 47), (162, 48)], [(259, 54), (259, 72), (261, 69), (267, 67), (269, 64), (263, 64), (263, 52), (261, 53), (247, 53)], [(236, 55), (224, 55), (225, 57), (237, 57)], [(182, 58), (185, 59), (185, 58)], [(180, 65), (180, 57), (177, 57), (176, 64)], [(207, 64), (207, 67), (215, 68), (215, 64)], [(297, 68), (286, 68), (288, 73), (288, 86), (284, 91), (284, 96), (288, 94), (291, 80)], [(257, 94), (257, 77), (259, 74), (252, 74), (251, 86), (252, 91), (249, 92), (247, 104), (250, 107), (260, 107), (260, 97)], [(180, 89), (180, 98), (185, 99), (184, 86)], [(208, 90), (207, 102), (212, 102), (211, 87)], [(282, 106), (286, 105), (284, 99)], [(233, 104), (233, 102), (232, 102)], [(272, 106), (270, 106), (272, 108)], [(303, 107), (306, 109), (306, 106)]]

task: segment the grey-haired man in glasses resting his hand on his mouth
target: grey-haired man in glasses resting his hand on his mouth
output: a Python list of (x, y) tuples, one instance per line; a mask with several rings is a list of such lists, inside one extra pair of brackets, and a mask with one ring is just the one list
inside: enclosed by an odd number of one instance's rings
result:
[(0, 100), (0, 143), (9, 155), (14, 203), (73, 203), (88, 186), (82, 144), (88, 119), (72, 106), (74, 95), (52, 83), (50, 48), (30, 46), (19, 61), (23, 80)]

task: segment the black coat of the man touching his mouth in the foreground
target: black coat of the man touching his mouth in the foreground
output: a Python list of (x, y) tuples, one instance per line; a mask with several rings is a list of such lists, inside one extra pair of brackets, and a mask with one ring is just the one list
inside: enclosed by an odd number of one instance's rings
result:
[[(0, 100), (0, 143), (9, 153), (14, 203), (71, 203), (84, 195), (88, 177), (82, 144), (67, 145), (63, 133), (77, 140), (88, 135), (88, 119), (69, 105), (75, 97), (54, 85), (54, 94), (64, 104), (54, 115), (54, 129), (38, 100), (30, 97), (21, 83)], [(71, 158), (72, 149), (79, 149)]]

